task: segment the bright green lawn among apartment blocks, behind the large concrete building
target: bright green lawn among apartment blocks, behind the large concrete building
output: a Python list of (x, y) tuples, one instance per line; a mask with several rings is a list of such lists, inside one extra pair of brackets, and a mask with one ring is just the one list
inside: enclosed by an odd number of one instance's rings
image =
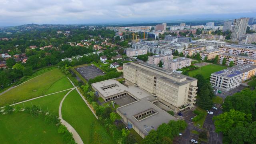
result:
[(224, 70), (226, 68), (228, 67), (217, 65), (217, 64), (209, 64), (207, 66), (202, 66), (196, 70), (188, 71), (188, 74), (189, 76), (196, 76), (196, 74), (202, 74), (204, 78), (210, 78), (212, 73), (218, 72), (220, 70)]

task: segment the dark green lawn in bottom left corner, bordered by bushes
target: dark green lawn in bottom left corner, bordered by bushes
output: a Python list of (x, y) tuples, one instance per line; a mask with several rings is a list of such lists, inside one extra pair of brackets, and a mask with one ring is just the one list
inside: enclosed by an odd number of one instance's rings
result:
[(58, 127), (25, 112), (0, 115), (1, 144), (66, 144)]

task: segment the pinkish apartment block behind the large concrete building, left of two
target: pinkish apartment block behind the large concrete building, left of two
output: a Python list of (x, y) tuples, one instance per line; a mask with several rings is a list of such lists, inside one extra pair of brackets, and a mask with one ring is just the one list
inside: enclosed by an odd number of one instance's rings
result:
[(173, 55), (172, 54), (160, 54), (160, 55), (154, 55), (154, 56), (148, 56), (148, 64), (159, 64), (160, 61), (163, 63), (168, 60), (172, 60)]

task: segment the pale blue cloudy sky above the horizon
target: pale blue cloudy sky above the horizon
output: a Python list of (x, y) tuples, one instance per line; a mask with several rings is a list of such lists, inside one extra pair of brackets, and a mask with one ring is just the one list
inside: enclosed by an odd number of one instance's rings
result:
[(0, 0), (0, 26), (256, 17), (255, 0)]

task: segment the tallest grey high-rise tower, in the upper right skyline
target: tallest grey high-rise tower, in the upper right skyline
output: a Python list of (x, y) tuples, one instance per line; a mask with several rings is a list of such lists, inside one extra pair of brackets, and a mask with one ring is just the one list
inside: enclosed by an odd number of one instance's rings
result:
[(230, 39), (231, 40), (238, 40), (238, 38), (241, 35), (245, 35), (246, 33), (246, 28), (248, 25), (248, 20), (249, 18), (239, 18), (239, 19), (234, 19), (233, 24), (234, 26), (232, 26), (231, 29), (231, 36)]

